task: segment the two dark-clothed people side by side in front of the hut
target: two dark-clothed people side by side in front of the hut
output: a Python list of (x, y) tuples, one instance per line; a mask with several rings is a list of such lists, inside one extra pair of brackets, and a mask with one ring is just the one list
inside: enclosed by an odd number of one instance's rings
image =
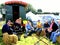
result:
[(21, 18), (16, 19), (14, 23), (11, 20), (8, 20), (6, 24), (2, 27), (2, 33), (8, 33), (9, 35), (15, 34), (18, 36), (18, 40), (20, 40), (20, 34), (22, 34), (22, 24), (21, 24)]

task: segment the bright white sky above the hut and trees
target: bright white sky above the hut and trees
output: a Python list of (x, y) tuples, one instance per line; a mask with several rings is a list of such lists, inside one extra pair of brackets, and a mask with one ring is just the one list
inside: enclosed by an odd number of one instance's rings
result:
[[(0, 4), (11, 0), (0, 0)], [(31, 4), (33, 8), (43, 12), (60, 12), (60, 0), (18, 0)]]

